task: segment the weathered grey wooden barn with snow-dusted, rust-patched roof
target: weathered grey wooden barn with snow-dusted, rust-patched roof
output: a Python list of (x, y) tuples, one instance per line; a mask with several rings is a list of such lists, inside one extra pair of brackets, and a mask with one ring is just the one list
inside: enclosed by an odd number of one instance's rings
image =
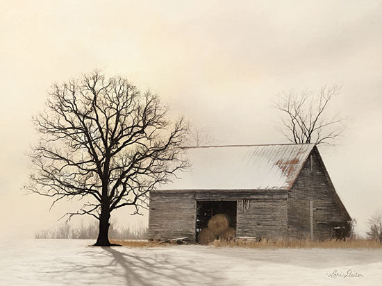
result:
[(186, 147), (192, 167), (150, 194), (149, 239), (189, 237), (215, 214), (236, 237), (328, 239), (351, 217), (315, 144)]

